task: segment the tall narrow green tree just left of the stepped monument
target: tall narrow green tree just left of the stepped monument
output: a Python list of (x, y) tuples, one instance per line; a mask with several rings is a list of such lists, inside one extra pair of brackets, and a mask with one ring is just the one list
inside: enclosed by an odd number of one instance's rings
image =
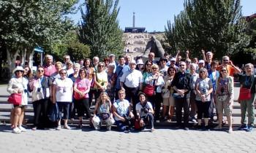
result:
[(108, 54), (121, 54), (122, 31), (118, 27), (118, 0), (86, 0), (86, 12), (80, 9), (82, 21), (79, 39), (88, 44), (91, 57), (105, 58)]

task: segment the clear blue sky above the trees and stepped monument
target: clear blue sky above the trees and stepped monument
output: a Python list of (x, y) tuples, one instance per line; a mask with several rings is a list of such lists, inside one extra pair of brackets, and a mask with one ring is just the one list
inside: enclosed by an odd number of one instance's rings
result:
[[(80, 0), (80, 4), (83, 1)], [(164, 31), (167, 20), (173, 23), (174, 15), (184, 9), (183, 4), (184, 0), (119, 0), (119, 26), (123, 30), (132, 26), (132, 13), (135, 12), (135, 26), (146, 27), (146, 31)], [(256, 0), (241, 0), (241, 6), (244, 16), (256, 13)], [(78, 23), (80, 11), (71, 17)]]

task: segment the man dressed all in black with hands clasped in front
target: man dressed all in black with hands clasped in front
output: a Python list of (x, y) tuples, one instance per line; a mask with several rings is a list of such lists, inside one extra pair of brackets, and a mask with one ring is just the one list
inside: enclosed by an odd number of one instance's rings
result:
[(182, 108), (184, 109), (184, 130), (189, 130), (189, 101), (187, 94), (190, 90), (191, 75), (186, 73), (186, 63), (180, 62), (179, 71), (173, 77), (171, 87), (173, 87), (173, 98), (176, 106), (177, 125), (181, 127)]

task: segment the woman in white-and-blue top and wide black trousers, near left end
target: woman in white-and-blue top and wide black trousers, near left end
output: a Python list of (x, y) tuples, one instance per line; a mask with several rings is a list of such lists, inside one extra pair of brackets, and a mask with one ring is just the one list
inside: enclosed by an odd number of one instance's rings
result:
[(34, 127), (47, 127), (48, 121), (48, 101), (50, 97), (49, 78), (44, 76), (44, 68), (37, 67), (37, 75), (29, 81), (29, 90), (32, 92), (32, 102), (34, 108)]

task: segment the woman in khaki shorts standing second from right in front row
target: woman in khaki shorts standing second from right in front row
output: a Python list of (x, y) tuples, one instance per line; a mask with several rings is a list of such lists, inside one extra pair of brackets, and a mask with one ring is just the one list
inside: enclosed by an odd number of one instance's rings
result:
[(215, 100), (217, 105), (219, 126), (216, 129), (222, 129), (223, 109), (227, 117), (229, 126), (228, 133), (232, 133), (232, 107), (234, 98), (234, 82), (233, 77), (227, 75), (227, 68), (223, 67), (217, 79), (217, 87), (215, 91)]

